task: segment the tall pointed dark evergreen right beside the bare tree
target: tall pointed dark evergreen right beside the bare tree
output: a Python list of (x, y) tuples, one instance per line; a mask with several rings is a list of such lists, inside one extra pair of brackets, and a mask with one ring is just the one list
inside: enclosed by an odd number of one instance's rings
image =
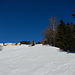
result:
[(63, 20), (60, 20), (60, 24), (57, 27), (57, 35), (56, 35), (56, 45), (60, 48), (65, 48), (65, 23)]

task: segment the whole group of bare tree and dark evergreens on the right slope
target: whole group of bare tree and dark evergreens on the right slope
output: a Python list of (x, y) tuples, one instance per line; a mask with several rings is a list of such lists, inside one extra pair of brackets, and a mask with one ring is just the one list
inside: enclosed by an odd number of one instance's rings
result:
[(57, 19), (51, 17), (42, 35), (48, 39), (49, 45), (75, 52), (75, 25), (73, 23), (65, 24), (63, 20), (60, 20), (60, 24), (57, 24)]

